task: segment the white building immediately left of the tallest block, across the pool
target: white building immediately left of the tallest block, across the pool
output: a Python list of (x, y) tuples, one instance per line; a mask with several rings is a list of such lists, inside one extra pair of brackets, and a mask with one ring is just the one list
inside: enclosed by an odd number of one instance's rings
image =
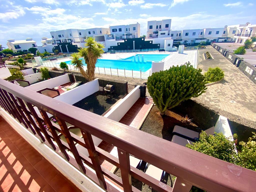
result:
[(137, 38), (140, 37), (140, 24), (137, 22), (136, 24), (130, 25), (116, 25), (110, 26), (110, 36), (113, 39), (127, 39), (127, 38)]

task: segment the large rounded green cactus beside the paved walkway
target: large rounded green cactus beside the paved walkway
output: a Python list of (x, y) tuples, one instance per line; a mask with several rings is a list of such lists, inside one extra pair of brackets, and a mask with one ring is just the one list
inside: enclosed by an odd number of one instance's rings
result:
[(152, 73), (148, 77), (148, 92), (160, 110), (160, 115), (164, 115), (167, 109), (174, 108), (182, 101), (198, 97), (207, 89), (202, 70), (195, 69), (189, 61), (185, 64)]

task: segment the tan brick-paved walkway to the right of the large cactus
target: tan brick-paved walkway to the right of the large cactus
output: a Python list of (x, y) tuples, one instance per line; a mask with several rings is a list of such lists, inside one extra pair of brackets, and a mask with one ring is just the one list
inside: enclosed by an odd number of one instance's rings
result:
[[(202, 54), (205, 51), (209, 51), (214, 60), (204, 60)], [(198, 99), (229, 113), (256, 121), (256, 85), (212, 46), (199, 50), (199, 55), (198, 68), (205, 72), (209, 67), (220, 67), (225, 76), (220, 83), (209, 86), (206, 93)]]

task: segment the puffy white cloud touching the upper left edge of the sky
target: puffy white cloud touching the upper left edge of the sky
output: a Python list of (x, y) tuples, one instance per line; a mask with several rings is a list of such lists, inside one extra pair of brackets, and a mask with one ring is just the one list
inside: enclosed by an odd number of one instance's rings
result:
[(0, 20), (2, 22), (8, 22), (10, 19), (17, 19), (18, 17), (22, 17), (26, 14), (25, 7), (20, 5), (12, 5), (12, 9), (7, 10), (4, 13), (0, 13)]

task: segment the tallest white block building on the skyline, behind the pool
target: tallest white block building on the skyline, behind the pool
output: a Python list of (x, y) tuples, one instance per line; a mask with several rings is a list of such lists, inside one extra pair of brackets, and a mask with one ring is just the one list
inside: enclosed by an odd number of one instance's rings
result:
[(147, 22), (147, 38), (170, 37), (172, 19)]

